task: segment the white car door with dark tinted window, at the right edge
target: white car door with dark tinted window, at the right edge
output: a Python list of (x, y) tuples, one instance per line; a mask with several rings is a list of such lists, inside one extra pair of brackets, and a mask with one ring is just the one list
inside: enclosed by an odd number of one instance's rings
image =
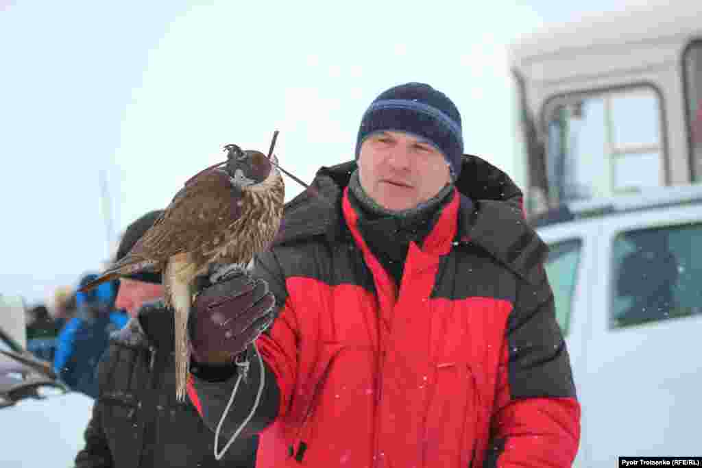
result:
[(699, 451), (700, 213), (697, 205), (602, 220), (578, 382), (587, 389), (591, 466)]

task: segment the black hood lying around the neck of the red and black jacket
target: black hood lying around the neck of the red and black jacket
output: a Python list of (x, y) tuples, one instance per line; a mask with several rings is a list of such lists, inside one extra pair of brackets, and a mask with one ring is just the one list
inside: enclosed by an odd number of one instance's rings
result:
[[(314, 236), (333, 241), (347, 233), (341, 199), (356, 168), (356, 161), (320, 168), (311, 189), (286, 203), (274, 245)], [(455, 186), (463, 199), (458, 241), (481, 246), (527, 281), (540, 281), (534, 267), (543, 262), (548, 248), (527, 224), (524, 195), (515, 182), (479, 156), (464, 154)]]

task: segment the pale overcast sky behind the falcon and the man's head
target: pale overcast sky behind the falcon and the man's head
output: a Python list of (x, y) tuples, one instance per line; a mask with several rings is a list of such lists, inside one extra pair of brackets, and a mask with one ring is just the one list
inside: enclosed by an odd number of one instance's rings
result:
[(505, 45), (581, 13), (564, 3), (0, 0), (0, 293), (100, 267), (100, 171), (114, 240), (226, 143), (265, 151), (277, 129), (307, 181), (351, 159), (366, 106), (406, 81), (449, 95), (465, 151), (521, 184)]

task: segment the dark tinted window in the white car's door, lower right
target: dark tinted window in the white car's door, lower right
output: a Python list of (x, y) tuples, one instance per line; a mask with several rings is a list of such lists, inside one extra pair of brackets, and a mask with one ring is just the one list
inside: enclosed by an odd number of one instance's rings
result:
[(702, 313), (702, 223), (614, 239), (610, 328)]

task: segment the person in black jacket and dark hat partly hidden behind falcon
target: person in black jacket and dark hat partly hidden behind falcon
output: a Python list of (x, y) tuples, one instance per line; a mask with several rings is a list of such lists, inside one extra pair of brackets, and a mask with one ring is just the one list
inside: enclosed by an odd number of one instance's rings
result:
[[(147, 213), (126, 229), (117, 260), (161, 213)], [(98, 364), (98, 399), (75, 467), (253, 467), (256, 437), (237, 441), (218, 462), (213, 432), (190, 400), (176, 400), (173, 312), (162, 296), (160, 274), (121, 279), (115, 307), (130, 319), (112, 334)]]

